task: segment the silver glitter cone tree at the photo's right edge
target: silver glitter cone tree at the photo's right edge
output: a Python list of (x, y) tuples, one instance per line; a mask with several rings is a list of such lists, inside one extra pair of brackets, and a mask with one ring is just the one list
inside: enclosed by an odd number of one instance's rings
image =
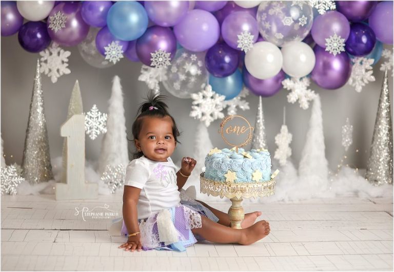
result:
[(386, 69), (365, 178), (372, 184), (381, 185), (392, 183), (392, 174), (392, 124)]

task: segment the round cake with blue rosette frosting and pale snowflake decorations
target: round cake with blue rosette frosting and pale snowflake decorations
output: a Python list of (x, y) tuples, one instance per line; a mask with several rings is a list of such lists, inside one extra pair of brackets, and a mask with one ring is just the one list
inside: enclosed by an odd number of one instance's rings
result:
[(239, 148), (212, 149), (205, 157), (204, 178), (219, 182), (264, 182), (271, 180), (271, 157), (265, 149), (245, 152)]

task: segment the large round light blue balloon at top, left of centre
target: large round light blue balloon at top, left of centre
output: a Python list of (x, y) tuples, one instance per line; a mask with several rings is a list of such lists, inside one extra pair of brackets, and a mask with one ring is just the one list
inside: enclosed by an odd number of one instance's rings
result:
[(108, 11), (107, 26), (116, 38), (134, 40), (141, 37), (146, 31), (148, 15), (138, 2), (119, 1), (113, 4)]

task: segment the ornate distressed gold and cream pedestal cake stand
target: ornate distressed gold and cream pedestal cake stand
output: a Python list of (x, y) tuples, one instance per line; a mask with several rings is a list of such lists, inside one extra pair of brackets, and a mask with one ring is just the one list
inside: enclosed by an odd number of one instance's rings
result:
[(263, 182), (219, 182), (204, 178), (204, 173), (200, 174), (201, 193), (228, 197), (231, 200), (231, 207), (228, 210), (230, 217), (230, 226), (232, 228), (241, 228), (241, 222), (244, 220), (244, 208), (241, 203), (244, 198), (264, 197), (275, 193), (275, 180)]

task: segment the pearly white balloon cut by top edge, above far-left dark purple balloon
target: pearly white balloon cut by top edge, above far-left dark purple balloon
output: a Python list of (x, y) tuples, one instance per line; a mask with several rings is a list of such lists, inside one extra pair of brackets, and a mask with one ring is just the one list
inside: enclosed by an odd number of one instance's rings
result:
[(31, 21), (45, 19), (54, 6), (54, 1), (16, 1), (19, 13)]

